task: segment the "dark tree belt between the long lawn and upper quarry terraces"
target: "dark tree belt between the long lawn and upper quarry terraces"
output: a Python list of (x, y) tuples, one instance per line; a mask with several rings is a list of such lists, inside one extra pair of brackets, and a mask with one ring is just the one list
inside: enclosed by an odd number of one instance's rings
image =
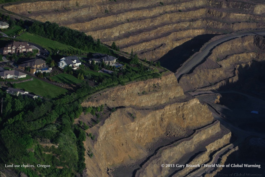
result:
[(56, 23), (35, 21), (29, 27), (28, 32), (81, 50), (110, 53), (107, 47), (101, 45), (99, 39), (95, 42), (90, 35), (87, 36), (84, 32), (72, 30), (67, 27), (59, 27)]

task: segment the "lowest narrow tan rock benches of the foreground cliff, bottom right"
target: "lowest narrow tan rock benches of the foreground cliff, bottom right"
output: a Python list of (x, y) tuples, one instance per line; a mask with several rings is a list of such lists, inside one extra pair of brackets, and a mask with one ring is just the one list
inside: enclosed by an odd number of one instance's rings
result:
[[(185, 140), (183, 142), (176, 143), (176, 145), (170, 145), (170, 147), (165, 147), (160, 150), (160, 153), (156, 155), (150, 162), (143, 166), (136, 176), (167, 176), (169, 175), (170, 168), (162, 168), (161, 164), (175, 164), (182, 158), (185, 154), (193, 152), (196, 149), (196, 145), (200, 142), (213, 138), (218, 132), (220, 132), (219, 122), (216, 122), (214, 125), (205, 127), (202, 130), (198, 130), (195, 135), (192, 136), (190, 140)], [(203, 153), (199, 158), (195, 158), (194, 163), (198, 164), (207, 162), (209, 160), (209, 154), (213, 150), (223, 147), (225, 144), (229, 143), (231, 133), (224, 135), (222, 138), (216, 140), (215, 142), (206, 146), (207, 151)], [(185, 169), (185, 168), (184, 168)], [(192, 168), (186, 168), (185, 170), (178, 173), (178, 176), (185, 176), (188, 171), (191, 171)]]

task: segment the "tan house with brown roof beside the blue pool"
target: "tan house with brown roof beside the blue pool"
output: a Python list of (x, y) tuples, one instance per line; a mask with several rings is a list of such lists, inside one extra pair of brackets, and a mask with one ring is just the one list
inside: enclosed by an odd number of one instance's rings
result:
[(30, 73), (35, 74), (36, 71), (46, 69), (46, 62), (42, 59), (32, 59), (18, 65), (19, 69), (24, 70), (26, 67), (30, 67)]

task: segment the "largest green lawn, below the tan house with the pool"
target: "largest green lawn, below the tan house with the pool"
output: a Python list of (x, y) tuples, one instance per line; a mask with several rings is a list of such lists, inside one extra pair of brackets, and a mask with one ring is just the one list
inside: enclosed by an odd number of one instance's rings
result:
[(51, 98), (55, 98), (61, 94), (64, 95), (67, 93), (66, 89), (54, 86), (37, 78), (33, 78), (33, 81), (18, 83), (16, 84), (16, 87), (19, 89), (24, 89), (28, 92), (32, 92), (39, 96), (50, 96)]

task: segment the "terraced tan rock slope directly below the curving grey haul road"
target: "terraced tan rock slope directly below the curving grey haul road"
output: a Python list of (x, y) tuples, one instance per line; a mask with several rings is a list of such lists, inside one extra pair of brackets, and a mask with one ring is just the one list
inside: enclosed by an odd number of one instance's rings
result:
[(219, 89), (238, 81), (242, 68), (250, 68), (253, 62), (264, 61), (264, 38), (246, 36), (217, 46), (191, 74), (180, 79), (185, 91)]

